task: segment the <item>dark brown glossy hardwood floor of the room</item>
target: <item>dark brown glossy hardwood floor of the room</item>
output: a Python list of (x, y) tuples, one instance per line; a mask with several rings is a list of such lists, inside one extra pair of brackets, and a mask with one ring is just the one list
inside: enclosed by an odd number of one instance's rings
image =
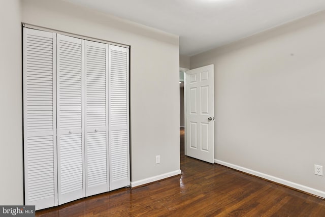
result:
[(325, 200), (184, 156), (182, 175), (40, 210), (37, 216), (325, 216)]

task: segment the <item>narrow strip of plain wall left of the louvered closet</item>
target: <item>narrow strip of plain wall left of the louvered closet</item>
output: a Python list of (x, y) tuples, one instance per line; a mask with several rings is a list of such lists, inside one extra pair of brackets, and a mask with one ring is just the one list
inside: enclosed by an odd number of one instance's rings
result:
[(0, 204), (23, 203), (20, 1), (0, 1)]

